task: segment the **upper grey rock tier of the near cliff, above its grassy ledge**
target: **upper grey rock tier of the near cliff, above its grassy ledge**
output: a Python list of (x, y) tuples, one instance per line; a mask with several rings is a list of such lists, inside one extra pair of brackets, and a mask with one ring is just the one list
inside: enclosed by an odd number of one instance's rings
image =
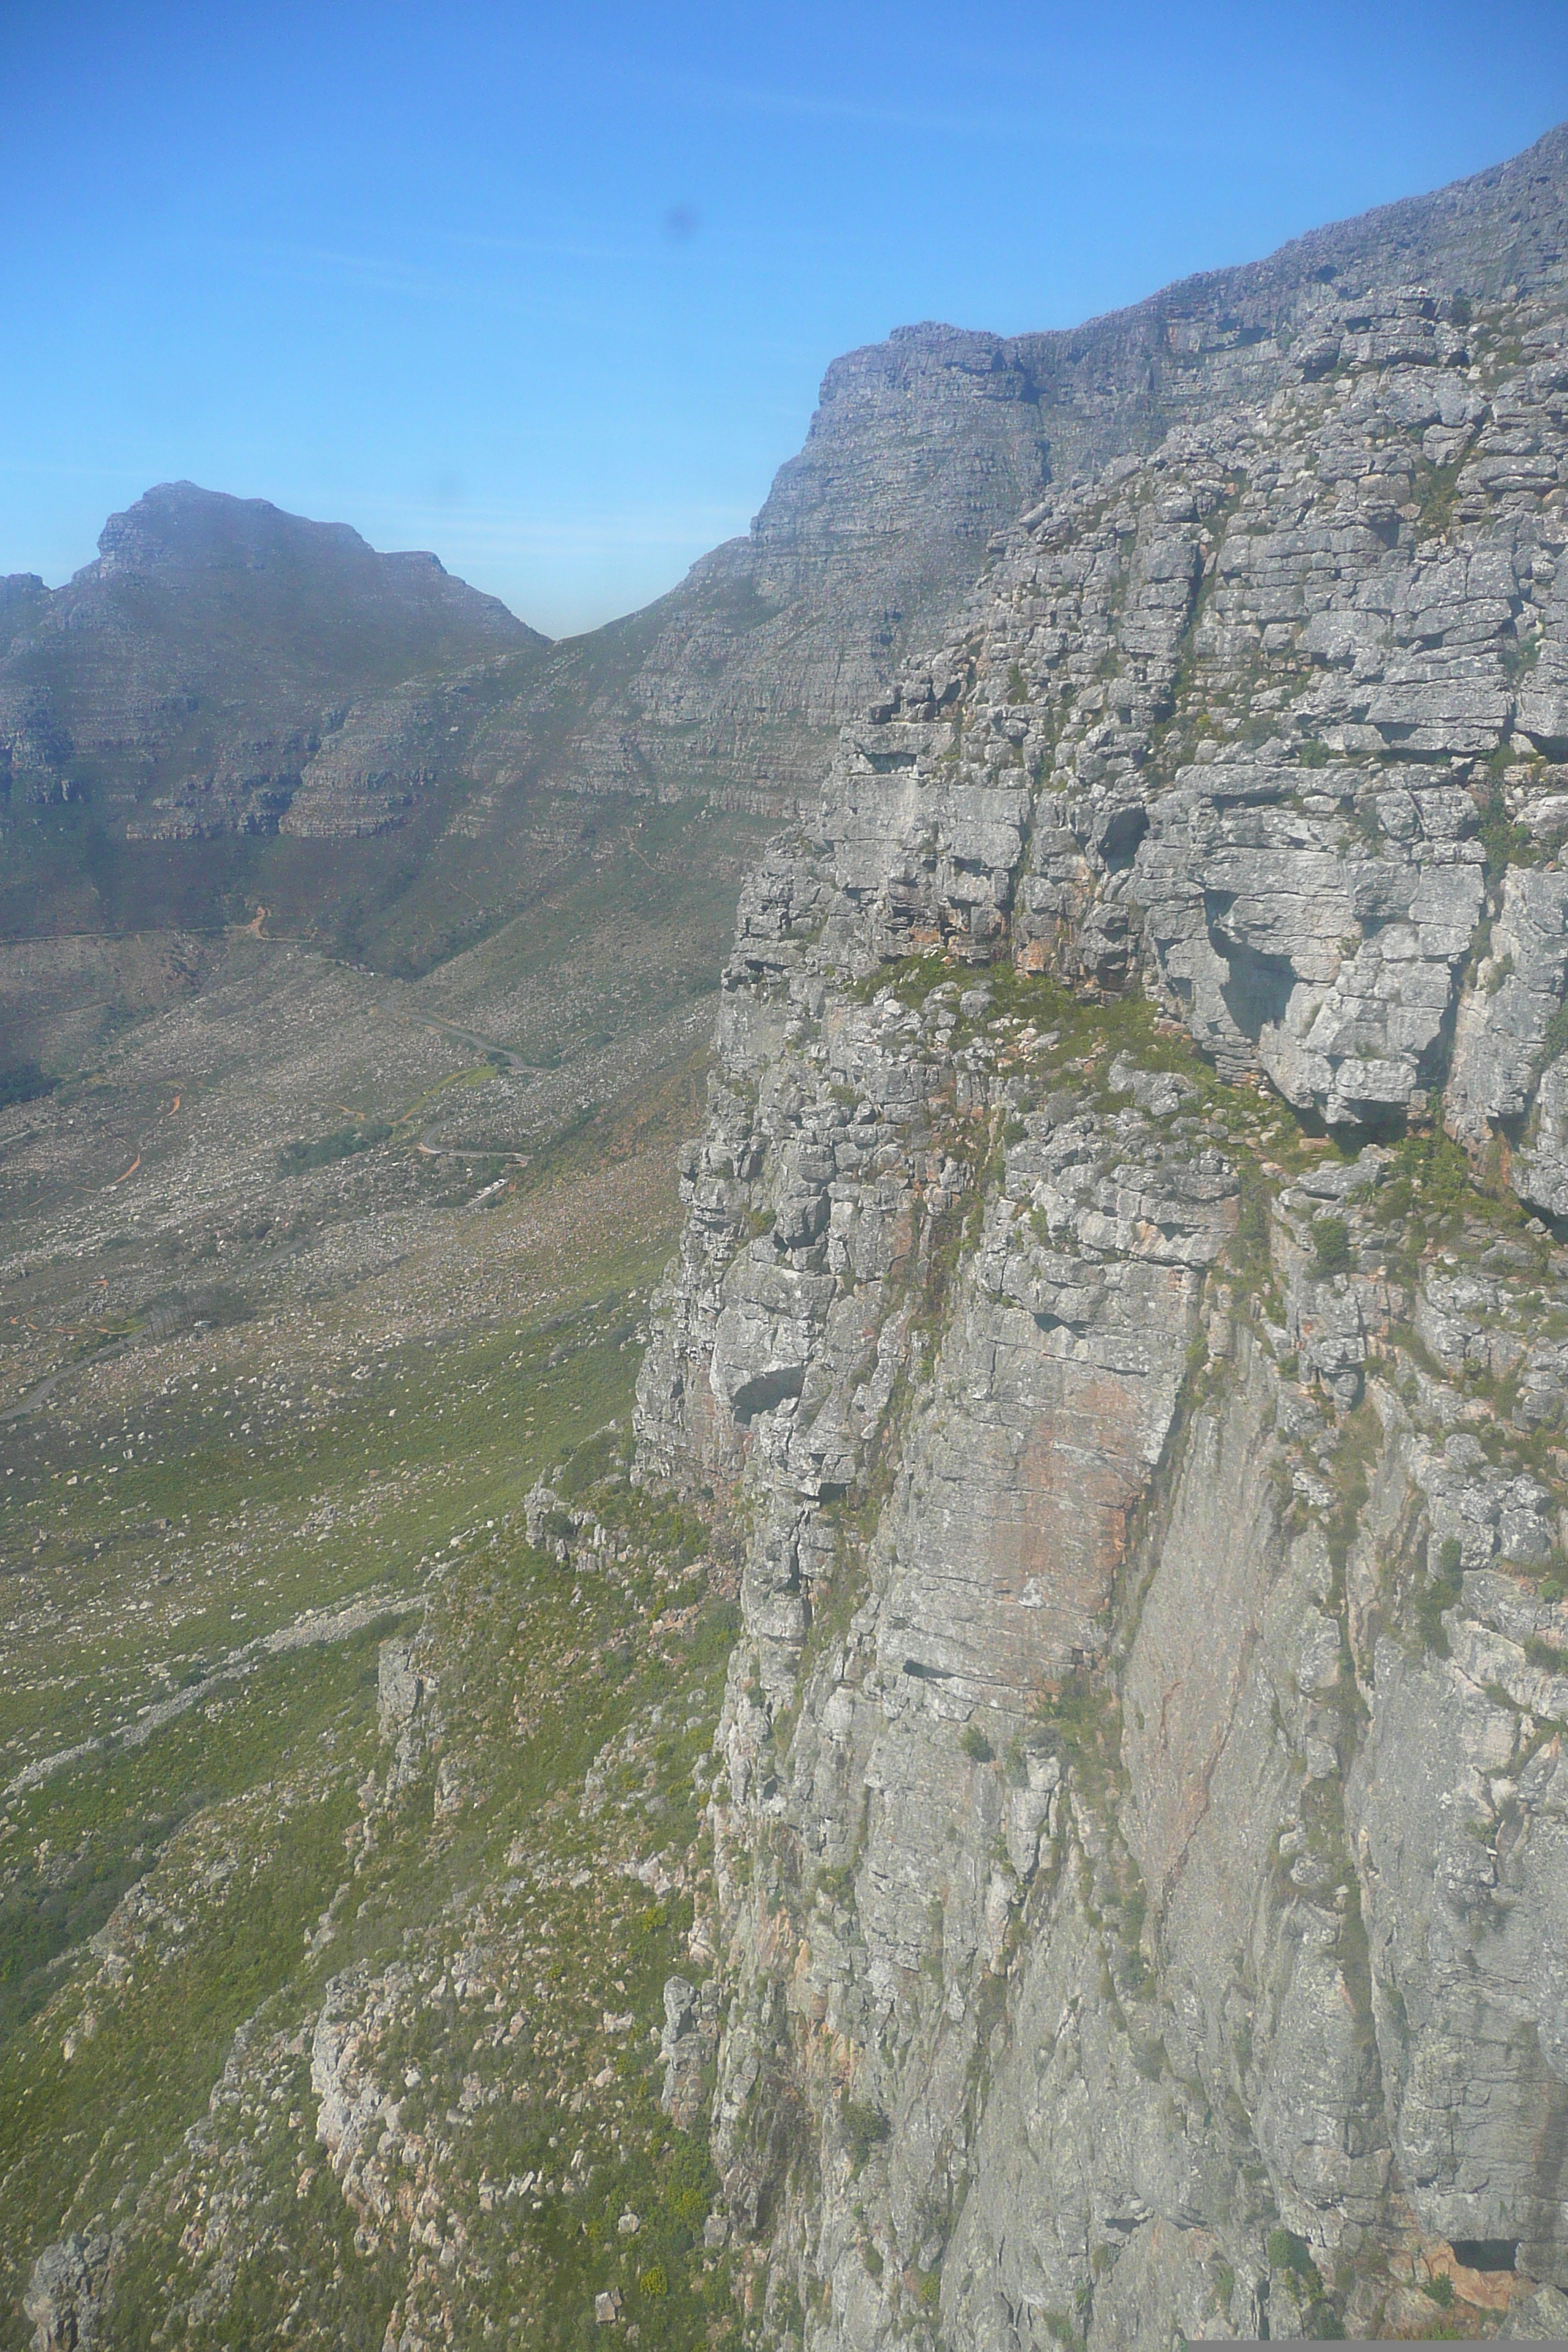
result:
[[(1262, 1070), (1331, 1127), (1420, 1108), (1460, 1016), (1488, 823), (1509, 856), (1561, 800), (1516, 680), (1563, 644), (1568, 379), (1544, 310), (1526, 332), (1535, 365), (1490, 397), (1469, 346), (1448, 369), (1300, 376), (1018, 527), (973, 633), (839, 755), (832, 870), (877, 950), (987, 955), (1011, 924), (1025, 960), (1070, 936), (1110, 985), (1143, 953), (1225, 1075)], [(1425, 445), (1443, 412), (1465, 426), (1439, 517)], [(1495, 459), (1519, 437), (1544, 468), (1523, 487)], [(1509, 873), (1455, 1058), (1472, 1143), (1526, 1120), (1554, 1061), (1559, 898), (1554, 870)], [(1516, 1178), (1535, 1167), (1549, 1209), (1554, 1103), (1552, 1082)]]

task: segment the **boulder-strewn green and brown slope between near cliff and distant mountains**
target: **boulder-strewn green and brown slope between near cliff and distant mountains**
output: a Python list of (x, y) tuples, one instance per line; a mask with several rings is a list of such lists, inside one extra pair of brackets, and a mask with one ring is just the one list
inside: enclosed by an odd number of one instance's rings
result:
[(733, 1602), (625, 1446), (762, 833), (562, 802), (381, 971), (280, 891), (0, 946), (0, 2345), (71, 2234), (113, 2345), (729, 2321), (658, 2032)]

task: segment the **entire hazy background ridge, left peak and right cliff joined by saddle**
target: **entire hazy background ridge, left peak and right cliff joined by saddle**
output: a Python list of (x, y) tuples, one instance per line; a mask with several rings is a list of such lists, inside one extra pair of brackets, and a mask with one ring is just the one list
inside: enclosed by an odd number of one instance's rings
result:
[[(376, 557), (371, 588), (369, 550), (341, 524), (289, 522), (190, 485), (155, 492), (110, 520), (99, 564), (56, 597), (7, 583), (0, 612), (21, 635), (0, 659), (12, 795), (94, 793), (110, 833), (153, 840), (273, 828), (362, 840), (407, 826), (430, 795), (473, 802), (484, 830), (496, 795), (538, 788), (788, 809), (813, 790), (837, 727), (910, 649), (945, 635), (992, 534), (1048, 482), (1147, 452), (1180, 419), (1267, 400), (1298, 369), (1328, 369), (1368, 289), (1420, 282), (1439, 299), (1490, 299), (1559, 285), (1566, 151), (1568, 132), (1549, 132), (1436, 195), (1077, 329), (1004, 339), (922, 325), (849, 353), (750, 534), (646, 612), (552, 652), (425, 557)], [(240, 515), (252, 520), (240, 527)], [(197, 677), (181, 633), (209, 595), (219, 546), (256, 588), (259, 529), (273, 541), (270, 581), (301, 564), (308, 541), (327, 572), (306, 602), (331, 581), (353, 621), (313, 647), (310, 604), (287, 647), (268, 635), (256, 677), (240, 663), (256, 706), (247, 720), (233, 694), (219, 715), (212, 661), (197, 659)], [(247, 532), (256, 546), (235, 555)], [(127, 567), (172, 581), (160, 550), (174, 543), (188, 602), (136, 612)], [(266, 597), (247, 593), (242, 609), (249, 628), (275, 628)], [(219, 640), (228, 668), (235, 649), (221, 628)], [(317, 677), (306, 649), (324, 656), (320, 673), (343, 656), (341, 675)]]

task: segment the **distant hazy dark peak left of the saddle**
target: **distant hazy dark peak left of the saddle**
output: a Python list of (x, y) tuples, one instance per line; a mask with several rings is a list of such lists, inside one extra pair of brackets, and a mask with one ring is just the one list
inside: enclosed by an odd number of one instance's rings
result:
[(393, 821), (397, 790), (367, 816), (386, 779), (364, 696), (400, 689), (407, 800), (430, 781), (414, 736), (433, 684), (548, 642), (435, 555), (376, 555), (348, 524), (193, 482), (110, 515), (63, 588), (12, 576), (0, 616), (0, 797), (99, 800), (129, 840), (320, 830), (355, 741), (360, 800), (329, 830)]

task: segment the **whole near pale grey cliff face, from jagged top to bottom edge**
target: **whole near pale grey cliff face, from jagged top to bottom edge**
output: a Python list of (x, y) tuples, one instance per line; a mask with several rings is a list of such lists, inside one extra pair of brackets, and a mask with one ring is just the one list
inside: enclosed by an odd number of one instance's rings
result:
[(1568, 320), (1316, 329), (743, 896), (637, 1428), (745, 1552), (712, 2145), (811, 2352), (1568, 2310)]

